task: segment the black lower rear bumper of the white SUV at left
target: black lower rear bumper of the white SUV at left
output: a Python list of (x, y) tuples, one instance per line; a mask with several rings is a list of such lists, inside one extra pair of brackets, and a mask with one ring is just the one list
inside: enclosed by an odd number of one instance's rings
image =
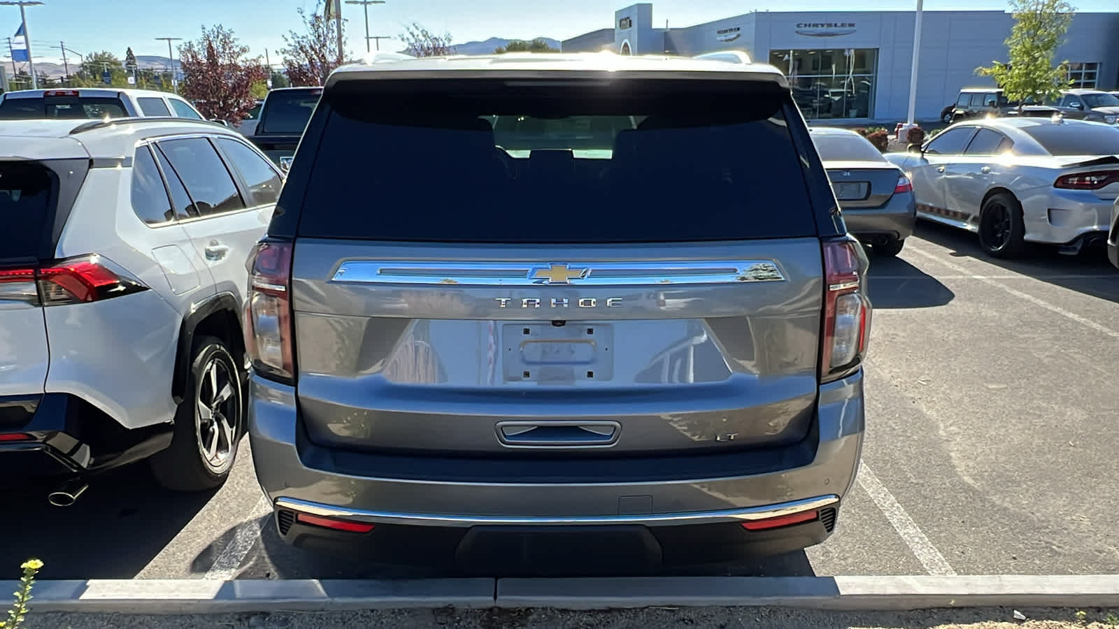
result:
[(171, 434), (171, 424), (126, 430), (73, 395), (0, 397), (0, 471), (18, 478), (119, 468), (166, 449)]

